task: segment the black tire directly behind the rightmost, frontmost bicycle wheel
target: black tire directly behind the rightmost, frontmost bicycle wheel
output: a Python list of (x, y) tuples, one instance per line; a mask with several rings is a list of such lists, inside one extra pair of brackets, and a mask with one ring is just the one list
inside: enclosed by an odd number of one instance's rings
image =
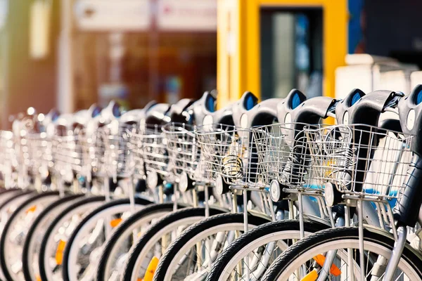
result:
[[(304, 229), (306, 233), (316, 233), (317, 231), (324, 230), (326, 228), (329, 228), (329, 226), (316, 221), (304, 222)], [(229, 247), (224, 249), (224, 251), (222, 251), (222, 253), (218, 256), (217, 260), (212, 265), (212, 270), (210, 271), (210, 274), (207, 276), (207, 281), (219, 280), (220, 275), (224, 273), (224, 268), (226, 267), (226, 265), (231, 259), (234, 258), (234, 256), (236, 256), (239, 251), (241, 251), (241, 249), (244, 249), (260, 237), (280, 233), (286, 230), (300, 231), (299, 221), (271, 221), (270, 223), (264, 223), (261, 226), (257, 226), (256, 228), (253, 228), (247, 233), (244, 233), (243, 235), (241, 235), (241, 237), (238, 237), (238, 239), (234, 240), (234, 242), (231, 242), (231, 244), (229, 244)]]

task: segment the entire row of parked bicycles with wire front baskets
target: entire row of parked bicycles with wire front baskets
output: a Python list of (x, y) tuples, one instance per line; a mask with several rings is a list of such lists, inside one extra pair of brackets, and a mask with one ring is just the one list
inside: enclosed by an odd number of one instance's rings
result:
[(422, 280), (422, 85), (216, 98), (18, 116), (0, 279)]

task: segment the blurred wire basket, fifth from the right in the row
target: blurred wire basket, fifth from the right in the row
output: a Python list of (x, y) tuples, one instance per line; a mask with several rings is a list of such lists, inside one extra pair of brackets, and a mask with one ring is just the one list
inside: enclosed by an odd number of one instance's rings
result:
[(167, 170), (167, 143), (161, 125), (143, 124), (139, 129), (133, 129), (130, 147), (133, 150), (136, 171), (154, 171), (162, 176), (170, 176)]

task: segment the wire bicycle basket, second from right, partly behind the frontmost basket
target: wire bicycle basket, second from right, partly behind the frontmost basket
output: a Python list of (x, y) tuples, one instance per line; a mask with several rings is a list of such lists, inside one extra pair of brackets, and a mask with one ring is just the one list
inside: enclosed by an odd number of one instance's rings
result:
[(290, 188), (314, 188), (305, 124), (271, 124), (252, 128), (262, 181), (279, 181)]

